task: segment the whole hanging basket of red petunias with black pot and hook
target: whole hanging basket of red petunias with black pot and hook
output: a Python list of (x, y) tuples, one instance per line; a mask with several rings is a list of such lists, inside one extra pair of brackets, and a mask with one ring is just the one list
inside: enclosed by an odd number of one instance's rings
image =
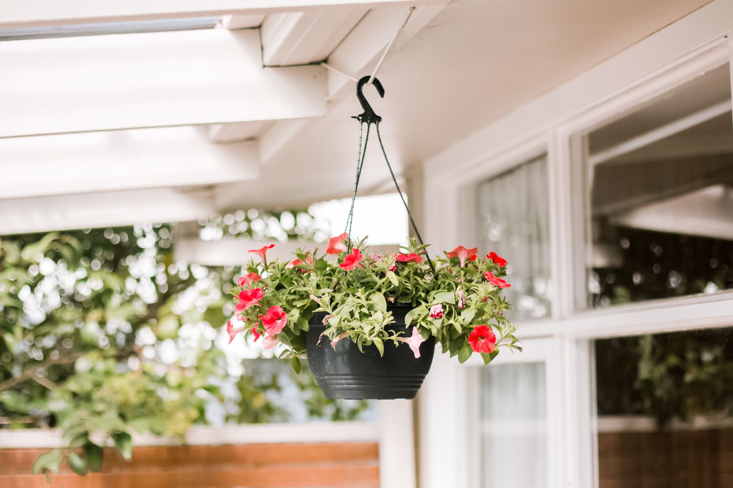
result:
[[(479, 353), (485, 364), (498, 347), (520, 350), (515, 328), (504, 318), (509, 304), (501, 290), (507, 261), (491, 252), (478, 258), (476, 247), (463, 246), (431, 260), (427, 244), (410, 215), (405, 198), (384, 151), (379, 124), (362, 88), (377, 78), (358, 81), (356, 94), (364, 113), (360, 122), (356, 181), (347, 232), (328, 241), (325, 255), (318, 249), (298, 249), (290, 263), (268, 263), (274, 244), (252, 249), (248, 273), (232, 290), (237, 315), (244, 325), (227, 323), (229, 342), (240, 332), (262, 337), (265, 349), (281, 343), (281, 358), (300, 371), (302, 356), (328, 398), (413, 398), (430, 370), (435, 342), (443, 353), (464, 362)], [(416, 239), (399, 252), (372, 254), (365, 240), (351, 239), (353, 209), (369, 131), (375, 125), (380, 149)], [(362, 150), (364, 125), (367, 134)], [(329, 259), (326, 259), (329, 258)]]

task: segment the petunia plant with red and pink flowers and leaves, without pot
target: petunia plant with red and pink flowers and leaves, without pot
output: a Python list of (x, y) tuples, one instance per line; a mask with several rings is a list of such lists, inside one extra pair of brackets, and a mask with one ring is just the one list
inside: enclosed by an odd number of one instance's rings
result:
[[(265, 349), (281, 344), (280, 356), (300, 369), (309, 320), (324, 312), (322, 336), (333, 348), (350, 340), (359, 350), (383, 353), (392, 341), (418, 358), (421, 343), (434, 336), (443, 353), (460, 362), (479, 353), (485, 364), (499, 347), (521, 350), (504, 316), (507, 260), (495, 252), (479, 258), (476, 247), (459, 246), (430, 260), (427, 245), (410, 239), (399, 252), (372, 253), (365, 239), (350, 241), (346, 233), (332, 238), (325, 254), (298, 249), (290, 262), (268, 260), (272, 247), (249, 251), (259, 259), (248, 263), (232, 290), (236, 317), (226, 326), (229, 342), (246, 334), (255, 342), (262, 337)], [(390, 326), (395, 307), (408, 310), (405, 329)]]

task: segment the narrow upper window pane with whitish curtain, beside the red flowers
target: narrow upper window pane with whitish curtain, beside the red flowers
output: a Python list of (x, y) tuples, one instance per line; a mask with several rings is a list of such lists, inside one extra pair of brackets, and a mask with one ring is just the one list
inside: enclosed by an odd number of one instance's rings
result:
[(509, 261), (510, 320), (550, 315), (547, 160), (540, 157), (479, 185), (479, 249)]

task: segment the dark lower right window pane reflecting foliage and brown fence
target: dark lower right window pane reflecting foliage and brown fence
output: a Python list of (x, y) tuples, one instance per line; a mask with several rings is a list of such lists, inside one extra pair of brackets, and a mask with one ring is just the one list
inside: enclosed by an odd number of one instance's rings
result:
[(733, 329), (596, 342), (600, 488), (733, 486)]

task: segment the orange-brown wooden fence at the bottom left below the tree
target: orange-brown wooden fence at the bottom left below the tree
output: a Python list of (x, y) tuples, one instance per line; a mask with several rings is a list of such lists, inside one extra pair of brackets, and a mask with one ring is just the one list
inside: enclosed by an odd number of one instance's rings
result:
[[(31, 466), (48, 449), (0, 450), (0, 487), (47, 488)], [(379, 486), (376, 442), (144, 446), (133, 460), (106, 449), (103, 470), (78, 476), (67, 466), (52, 488), (234, 488)]]

